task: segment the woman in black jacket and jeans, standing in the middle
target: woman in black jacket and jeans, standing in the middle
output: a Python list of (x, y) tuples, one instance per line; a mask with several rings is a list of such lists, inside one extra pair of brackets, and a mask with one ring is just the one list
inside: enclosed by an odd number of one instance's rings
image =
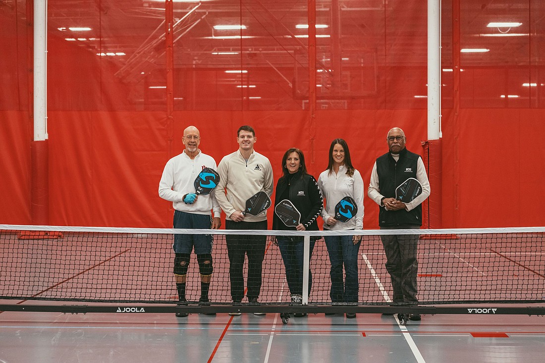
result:
[[(287, 227), (275, 214), (272, 219), (272, 229), (280, 229), (281, 231), (318, 231), (317, 218), (323, 208), (322, 193), (318, 189), (316, 179), (307, 173), (305, 156), (301, 150), (290, 148), (284, 153), (282, 172), (283, 176), (278, 179), (276, 184), (275, 206), (283, 199), (288, 199), (301, 213), (301, 220), (299, 225)], [(311, 237), (311, 256), (315, 242), (316, 238)], [(277, 243), (282, 254), (284, 267), (286, 267), (286, 279), (292, 302), (301, 302), (303, 293), (303, 237), (278, 236)], [(309, 293), (311, 284), (312, 275), (309, 269)], [(304, 315), (295, 314), (295, 316)]]

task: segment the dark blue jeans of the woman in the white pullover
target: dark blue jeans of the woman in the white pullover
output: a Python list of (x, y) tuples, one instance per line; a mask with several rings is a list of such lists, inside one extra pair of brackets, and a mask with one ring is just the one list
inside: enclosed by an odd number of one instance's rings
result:
[[(358, 253), (361, 242), (354, 245), (351, 235), (325, 236), (331, 263), (332, 302), (358, 302)], [(343, 281), (343, 265), (346, 280)]]

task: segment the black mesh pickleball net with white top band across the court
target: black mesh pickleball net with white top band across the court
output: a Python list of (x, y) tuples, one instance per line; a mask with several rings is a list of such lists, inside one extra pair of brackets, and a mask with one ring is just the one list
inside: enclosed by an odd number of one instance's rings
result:
[[(392, 304), (380, 238), (384, 234), (420, 236), (419, 305), (545, 302), (545, 227), (311, 233), (0, 225), (0, 299), (175, 304), (174, 233), (213, 236), (213, 305), (232, 304), (228, 233), (267, 235), (259, 295), (263, 305), (290, 304), (284, 264), (274, 243), (278, 235), (318, 238), (310, 257), (308, 305), (331, 305), (323, 239), (327, 234), (362, 235), (358, 305)], [(246, 269), (247, 261), (245, 277)], [(186, 299), (198, 301), (195, 253), (186, 285)]]

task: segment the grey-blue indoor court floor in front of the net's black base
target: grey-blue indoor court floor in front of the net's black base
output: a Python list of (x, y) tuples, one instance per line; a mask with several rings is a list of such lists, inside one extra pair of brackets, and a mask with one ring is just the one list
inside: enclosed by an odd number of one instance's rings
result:
[(435, 314), (402, 326), (376, 313), (311, 314), (284, 325), (277, 313), (0, 312), (1, 363), (526, 363), (544, 356), (543, 316)]

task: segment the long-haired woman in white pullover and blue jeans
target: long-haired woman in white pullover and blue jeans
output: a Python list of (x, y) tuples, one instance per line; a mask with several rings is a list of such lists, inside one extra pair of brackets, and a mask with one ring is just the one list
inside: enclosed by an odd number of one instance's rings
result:
[[(363, 229), (364, 227), (364, 180), (352, 166), (348, 144), (342, 138), (336, 138), (329, 148), (328, 169), (318, 178), (318, 187), (325, 199), (322, 211), (324, 230)], [(358, 213), (347, 222), (337, 221), (335, 205), (344, 197), (352, 197), (358, 205)], [(332, 302), (358, 302), (358, 253), (361, 245), (360, 236), (326, 236), (331, 263)], [(343, 281), (343, 265), (346, 281)], [(355, 313), (347, 313), (347, 318), (355, 318)]]

